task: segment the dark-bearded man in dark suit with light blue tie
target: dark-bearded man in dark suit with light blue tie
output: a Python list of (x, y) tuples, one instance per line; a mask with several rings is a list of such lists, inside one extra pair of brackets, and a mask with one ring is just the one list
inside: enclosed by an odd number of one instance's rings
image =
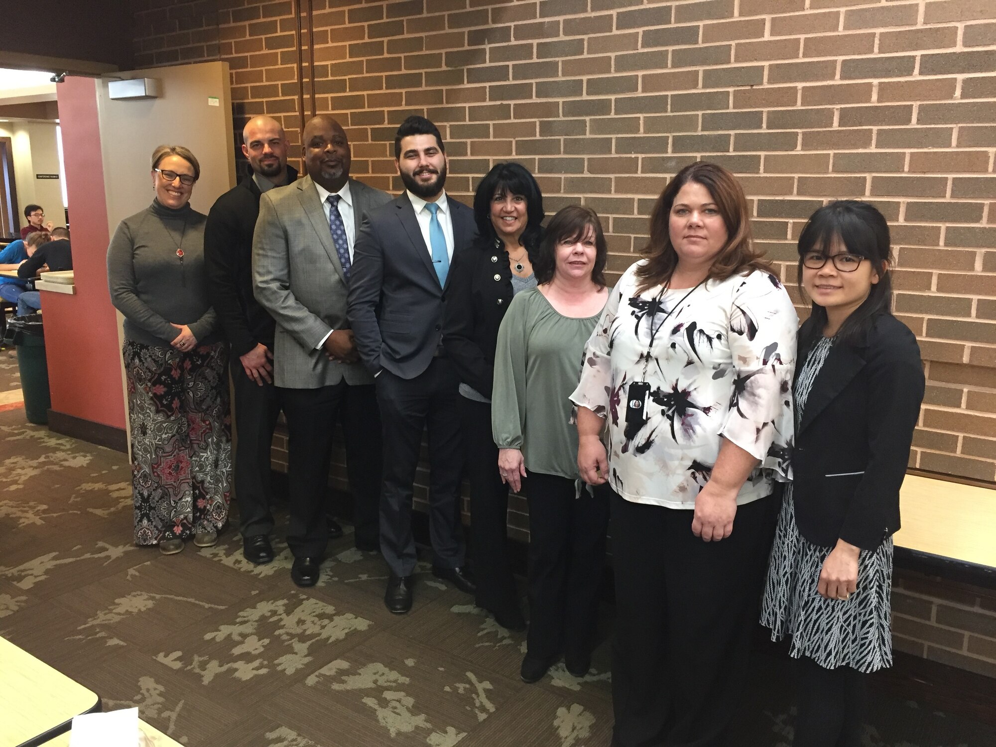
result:
[(400, 614), (411, 609), (412, 483), (426, 426), (432, 573), (463, 592), (475, 590), (463, 568), (459, 376), (440, 341), (449, 263), (469, 251), (476, 230), (473, 210), (443, 191), (446, 154), (434, 124), (405, 120), (394, 137), (394, 157), (406, 189), (373, 210), (360, 230), (349, 315), (360, 358), (375, 376), (390, 454), (380, 496), (380, 551), (390, 568), (384, 604)]

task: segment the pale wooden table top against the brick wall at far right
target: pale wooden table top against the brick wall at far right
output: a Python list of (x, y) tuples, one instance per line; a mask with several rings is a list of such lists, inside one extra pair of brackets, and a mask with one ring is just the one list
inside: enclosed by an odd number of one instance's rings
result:
[(996, 490), (906, 475), (896, 547), (996, 568)]

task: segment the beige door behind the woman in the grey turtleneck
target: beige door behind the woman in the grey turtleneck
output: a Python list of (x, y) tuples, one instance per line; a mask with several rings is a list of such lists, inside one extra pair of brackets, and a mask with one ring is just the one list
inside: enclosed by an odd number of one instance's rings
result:
[[(112, 101), (108, 81), (98, 81), (97, 106), (104, 143), (104, 182), (111, 234), (122, 219), (152, 201), (149, 156), (156, 145), (185, 145), (200, 161), (190, 204), (206, 213), (235, 184), (228, 63), (213, 62), (122, 73), (155, 78), (159, 98)], [(208, 98), (218, 106), (208, 105)]]

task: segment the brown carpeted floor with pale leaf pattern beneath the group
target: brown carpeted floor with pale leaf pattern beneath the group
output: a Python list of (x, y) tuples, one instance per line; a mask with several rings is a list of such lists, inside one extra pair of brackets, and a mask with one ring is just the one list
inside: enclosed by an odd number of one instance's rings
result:
[[(379, 556), (352, 549), (349, 535), (330, 547), (319, 586), (300, 590), (282, 542), (263, 567), (243, 560), (232, 530), (177, 556), (135, 548), (123, 454), (28, 425), (14, 409), (0, 412), (0, 457), (0, 634), (106, 709), (136, 705), (204, 747), (610, 743), (608, 644), (584, 679), (558, 664), (526, 685), (524, 635), (426, 565), (414, 610), (395, 617), (381, 602)], [(737, 745), (791, 743), (790, 668), (756, 657)], [(996, 728), (882, 694), (869, 722), (871, 747), (996, 744)]]

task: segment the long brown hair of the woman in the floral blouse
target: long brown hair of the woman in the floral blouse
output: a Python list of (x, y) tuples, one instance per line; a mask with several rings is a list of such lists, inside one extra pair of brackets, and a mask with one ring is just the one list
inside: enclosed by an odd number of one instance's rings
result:
[(643, 248), (646, 262), (636, 268), (637, 293), (666, 285), (671, 280), (678, 264), (678, 255), (671, 244), (671, 206), (681, 187), (689, 181), (709, 190), (726, 224), (726, 244), (712, 261), (709, 280), (725, 280), (747, 270), (767, 271), (770, 268), (770, 263), (763, 259), (763, 252), (757, 251), (751, 241), (750, 214), (740, 182), (722, 166), (699, 160), (678, 171), (653, 205), (650, 239)]

